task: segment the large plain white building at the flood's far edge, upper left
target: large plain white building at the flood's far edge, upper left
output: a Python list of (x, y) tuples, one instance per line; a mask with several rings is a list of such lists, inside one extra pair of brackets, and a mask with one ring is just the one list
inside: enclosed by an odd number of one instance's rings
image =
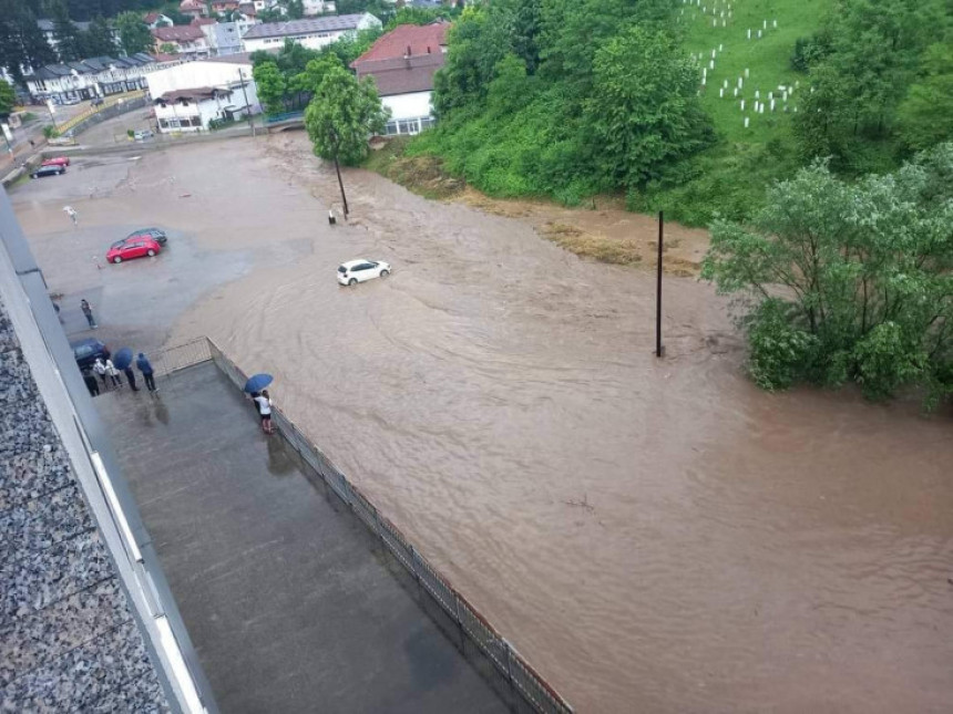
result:
[(247, 54), (187, 62), (146, 79), (160, 132), (201, 132), (213, 120), (260, 112)]

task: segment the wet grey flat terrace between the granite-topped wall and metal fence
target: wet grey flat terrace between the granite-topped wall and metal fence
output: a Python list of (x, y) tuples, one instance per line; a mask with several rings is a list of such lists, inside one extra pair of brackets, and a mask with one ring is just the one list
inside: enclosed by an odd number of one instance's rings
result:
[(212, 362), (94, 400), (223, 712), (509, 711)]

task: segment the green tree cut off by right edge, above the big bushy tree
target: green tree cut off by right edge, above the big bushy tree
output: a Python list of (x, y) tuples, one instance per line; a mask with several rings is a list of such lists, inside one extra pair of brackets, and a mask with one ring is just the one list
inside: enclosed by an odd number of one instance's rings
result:
[(898, 118), (900, 136), (910, 148), (924, 149), (953, 138), (953, 48), (949, 43), (928, 48)]

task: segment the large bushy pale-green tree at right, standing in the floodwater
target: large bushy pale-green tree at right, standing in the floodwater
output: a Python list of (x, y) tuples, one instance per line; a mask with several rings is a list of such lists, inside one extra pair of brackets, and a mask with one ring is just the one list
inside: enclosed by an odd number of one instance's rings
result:
[(822, 163), (719, 220), (703, 277), (737, 296), (759, 385), (953, 392), (953, 144), (857, 184)]

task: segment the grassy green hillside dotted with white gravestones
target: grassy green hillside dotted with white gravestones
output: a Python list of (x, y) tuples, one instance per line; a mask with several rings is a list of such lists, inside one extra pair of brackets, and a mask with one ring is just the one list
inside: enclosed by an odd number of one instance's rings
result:
[[(707, 84), (701, 87), (701, 102), (715, 123), (719, 142), (691, 161), (695, 177), (687, 184), (658, 188), (633, 197), (632, 207), (641, 210), (665, 209), (673, 218), (689, 225), (706, 225), (715, 214), (744, 218), (757, 208), (764, 189), (771, 182), (788, 176), (797, 167), (797, 155), (791, 136), (793, 108), (808, 92), (807, 77), (790, 69), (790, 55), (799, 37), (811, 34), (819, 25), (833, 0), (701, 0), (701, 6), (684, 4), (679, 8), (685, 48), (696, 56), (700, 53), (701, 66), (708, 66), (711, 50), (723, 45), (715, 58), (715, 69), (708, 71)], [(707, 7), (706, 13), (701, 7)], [(720, 12), (731, 9), (728, 25), (720, 25)], [(713, 27), (713, 10), (718, 27)], [(768, 21), (767, 30), (764, 21)], [(773, 27), (773, 21), (778, 27)], [(751, 29), (752, 39), (747, 39)], [(762, 38), (757, 39), (761, 30)], [(738, 77), (749, 76), (738, 97), (734, 87)], [(728, 80), (725, 97), (718, 90)], [(779, 85), (800, 82), (789, 96), (788, 113)], [(765, 114), (755, 114), (755, 91), (768, 103), (768, 92), (776, 94), (775, 113), (766, 107)], [(745, 113), (740, 100), (745, 100)], [(744, 117), (750, 117), (745, 128)]]

